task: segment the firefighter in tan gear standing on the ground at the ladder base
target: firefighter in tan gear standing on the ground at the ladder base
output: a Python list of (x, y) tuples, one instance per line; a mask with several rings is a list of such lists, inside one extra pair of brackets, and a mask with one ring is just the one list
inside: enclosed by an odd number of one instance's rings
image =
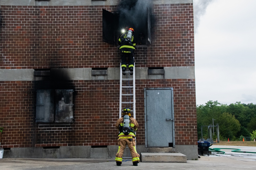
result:
[(131, 110), (128, 107), (124, 108), (123, 117), (117, 120), (115, 126), (120, 131), (117, 140), (118, 152), (115, 154), (116, 165), (121, 166), (123, 161), (123, 152), (127, 144), (132, 155), (132, 164), (134, 166), (138, 166), (140, 154), (137, 153), (135, 148), (135, 131), (139, 125), (137, 121), (131, 117)]

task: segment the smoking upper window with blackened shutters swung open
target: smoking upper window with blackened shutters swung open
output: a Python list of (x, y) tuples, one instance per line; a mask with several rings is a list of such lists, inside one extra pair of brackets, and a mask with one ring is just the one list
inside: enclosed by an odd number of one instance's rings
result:
[(118, 13), (111, 13), (102, 9), (102, 41), (117, 45), (122, 30), (126, 27), (134, 29), (136, 45), (151, 44), (150, 11), (147, 7), (140, 13), (119, 9)]

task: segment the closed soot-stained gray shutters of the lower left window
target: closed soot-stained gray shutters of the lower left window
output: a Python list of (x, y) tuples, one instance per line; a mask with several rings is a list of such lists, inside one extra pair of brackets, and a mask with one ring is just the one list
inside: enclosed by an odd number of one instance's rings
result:
[(36, 123), (71, 123), (73, 106), (73, 90), (37, 90)]

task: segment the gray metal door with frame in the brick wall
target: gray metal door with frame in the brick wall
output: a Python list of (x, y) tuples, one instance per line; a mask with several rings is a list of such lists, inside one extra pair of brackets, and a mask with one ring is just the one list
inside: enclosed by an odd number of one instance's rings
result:
[(145, 88), (146, 147), (175, 147), (173, 88)]

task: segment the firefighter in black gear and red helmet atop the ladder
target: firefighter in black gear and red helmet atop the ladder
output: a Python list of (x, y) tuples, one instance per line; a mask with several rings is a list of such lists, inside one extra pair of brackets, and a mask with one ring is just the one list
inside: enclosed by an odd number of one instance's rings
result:
[[(134, 67), (134, 50), (135, 50), (135, 40), (133, 37), (134, 29), (129, 28), (127, 33), (123, 33), (119, 38), (120, 43), (120, 53), (121, 53), (121, 67), (122, 72), (126, 70), (126, 57), (128, 58), (128, 68), (131, 71), (130, 75), (133, 75)], [(125, 75), (125, 73), (123, 73)]]

